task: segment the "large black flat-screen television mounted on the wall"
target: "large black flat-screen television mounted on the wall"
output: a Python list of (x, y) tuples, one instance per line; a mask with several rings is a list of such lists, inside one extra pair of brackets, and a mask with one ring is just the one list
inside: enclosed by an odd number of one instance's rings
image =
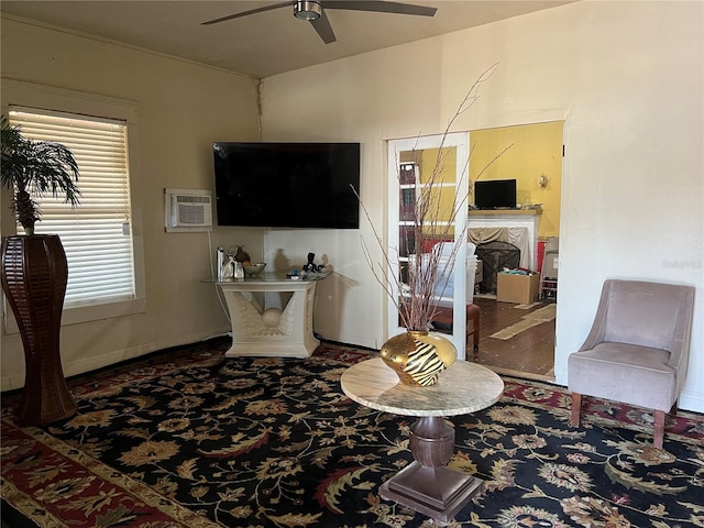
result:
[(218, 226), (358, 229), (359, 143), (213, 143)]

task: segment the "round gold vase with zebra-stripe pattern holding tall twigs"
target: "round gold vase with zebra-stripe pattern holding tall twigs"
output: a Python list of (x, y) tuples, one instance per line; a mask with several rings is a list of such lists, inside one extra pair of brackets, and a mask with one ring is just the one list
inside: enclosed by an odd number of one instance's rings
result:
[(402, 383), (427, 387), (438, 383), (438, 375), (454, 363), (458, 351), (442, 336), (408, 331), (386, 341), (381, 355)]

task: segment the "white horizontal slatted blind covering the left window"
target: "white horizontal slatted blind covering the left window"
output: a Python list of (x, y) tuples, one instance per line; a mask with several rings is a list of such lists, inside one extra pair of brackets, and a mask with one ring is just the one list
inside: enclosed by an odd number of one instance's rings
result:
[[(62, 239), (68, 261), (66, 307), (133, 299), (127, 124), (122, 121), (11, 107), (9, 120), (32, 140), (68, 147), (79, 168), (79, 205), (38, 199), (36, 233)], [(22, 228), (18, 228), (19, 232)]]

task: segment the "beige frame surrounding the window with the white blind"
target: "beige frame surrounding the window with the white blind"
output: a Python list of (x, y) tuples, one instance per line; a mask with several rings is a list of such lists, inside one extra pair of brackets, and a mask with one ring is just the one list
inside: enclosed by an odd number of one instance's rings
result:
[[(92, 116), (122, 120), (128, 128), (128, 167), (130, 174), (130, 202), (132, 208), (132, 251), (134, 258), (133, 299), (91, 304), (87, 306), (65, 307), (62, 326), (132, 316), (146, 311), (146, 288), (144, 271), (144, 250), (142, 230), (142, 204), (140, 187), (139, 156), (139, 103), (125, 99), (56, 88), (15, 79), (2, 78), (2, 113), (8, 114), (10, 106), (29, 107), (42, 110)], [(14, 218), (9, 212), (10, 194), (2, 189), (0, 205), (2, 212), (2, 235), (16, 234)], [(3, 304), (6, 333), (19, 333), (14, 315), (7, 302)]]

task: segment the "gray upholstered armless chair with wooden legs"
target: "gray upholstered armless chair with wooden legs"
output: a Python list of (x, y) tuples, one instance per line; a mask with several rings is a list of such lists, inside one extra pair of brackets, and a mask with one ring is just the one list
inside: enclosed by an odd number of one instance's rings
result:
[(676, 411), (686, 377), (693, 309), (692, 286), (606, 280), (592, 330), (568, 358), (572, 426), (582, 395), (646, 407), (661, 449), (666, 414)]

